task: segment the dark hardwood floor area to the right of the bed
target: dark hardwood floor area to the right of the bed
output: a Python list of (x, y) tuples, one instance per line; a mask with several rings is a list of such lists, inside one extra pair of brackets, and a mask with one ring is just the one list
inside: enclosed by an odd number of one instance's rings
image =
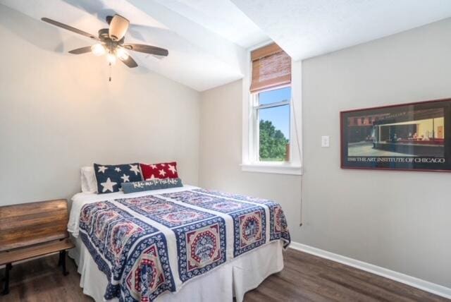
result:
[(449, 301), (412, 286), (291, 248), (282, 272), (249, 291), (257, 301)]

